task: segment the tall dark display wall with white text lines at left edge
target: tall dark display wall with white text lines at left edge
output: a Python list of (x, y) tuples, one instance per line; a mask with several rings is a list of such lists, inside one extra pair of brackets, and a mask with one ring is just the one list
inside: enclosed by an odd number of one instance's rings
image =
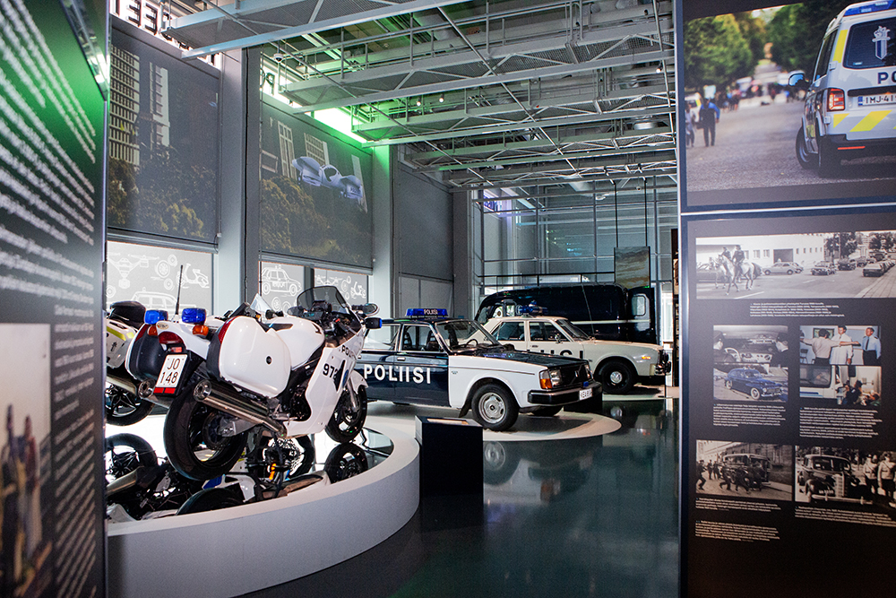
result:
[(0, 3), (3, 596), (106, 592), (99, 14)]

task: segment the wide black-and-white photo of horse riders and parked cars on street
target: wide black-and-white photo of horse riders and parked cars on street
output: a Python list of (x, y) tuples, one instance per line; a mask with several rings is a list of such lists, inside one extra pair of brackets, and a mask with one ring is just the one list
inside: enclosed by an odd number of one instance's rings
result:
[(896, 231), (696, 239), (698, 299), (896, 297)]

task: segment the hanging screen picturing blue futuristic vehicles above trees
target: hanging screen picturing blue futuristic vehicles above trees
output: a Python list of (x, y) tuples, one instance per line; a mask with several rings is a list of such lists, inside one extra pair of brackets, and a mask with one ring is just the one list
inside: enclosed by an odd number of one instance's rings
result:
[(262, 104), (262, 250), (371, 267), (370, 152), (280, 106)]

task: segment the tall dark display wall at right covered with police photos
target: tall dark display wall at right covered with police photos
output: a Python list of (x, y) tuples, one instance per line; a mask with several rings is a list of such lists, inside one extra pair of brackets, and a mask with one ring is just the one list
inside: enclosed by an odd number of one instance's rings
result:
[(892, 594), (896, 4), (679, 5), (682, 593)]

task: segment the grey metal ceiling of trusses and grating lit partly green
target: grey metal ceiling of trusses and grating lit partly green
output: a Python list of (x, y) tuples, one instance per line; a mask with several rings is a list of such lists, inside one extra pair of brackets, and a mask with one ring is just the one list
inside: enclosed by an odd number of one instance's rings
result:
[(675, 185), (672, 23), (658, 0), (242, 0), (167, 33), (185, 56), (265, 42), (297, 112), (348, 109), (448, 184), (595, 191)]

